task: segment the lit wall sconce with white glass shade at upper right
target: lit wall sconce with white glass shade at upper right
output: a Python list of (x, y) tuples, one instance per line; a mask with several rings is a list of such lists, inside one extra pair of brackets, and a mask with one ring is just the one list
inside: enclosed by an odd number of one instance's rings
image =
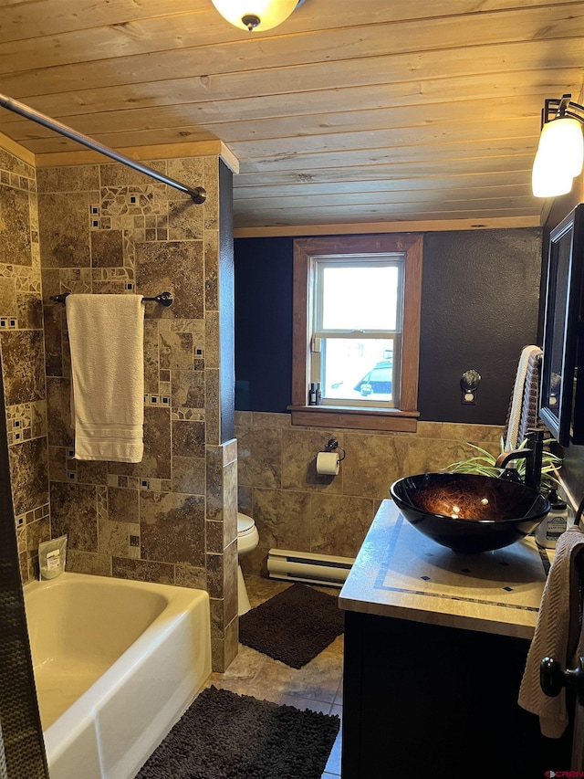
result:
[(570, 101), (546, 100), (531, 183), (536, 197), (566, 195), (584, 160), (584, 107)]

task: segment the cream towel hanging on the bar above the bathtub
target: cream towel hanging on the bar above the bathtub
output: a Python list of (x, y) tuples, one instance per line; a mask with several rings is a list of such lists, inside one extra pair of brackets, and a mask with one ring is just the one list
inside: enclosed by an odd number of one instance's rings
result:
[(141, 462), (144, 307), (140, 295), (68, 295), (75, 458)]

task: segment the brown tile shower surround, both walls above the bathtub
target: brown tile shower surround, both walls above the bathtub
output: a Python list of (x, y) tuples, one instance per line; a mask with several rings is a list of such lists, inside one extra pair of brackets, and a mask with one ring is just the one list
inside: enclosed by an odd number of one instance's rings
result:
[[(38, 542), (67, 533), (68, 570), (202, 587), (215, 670), (237, 651), (237, 447), (221, 440), (219, 399), (219, 165), (216, 156), (151, 163), (203, 184), (207, 201), (195, 205), (120, 164), (35, 175), (0, 149), (0, 348), (23, 579), (37, 576)], [(167, 289), (171, 308), (145, 304), (142, 462), (75, 460), (65, 307), (50, 296)]]

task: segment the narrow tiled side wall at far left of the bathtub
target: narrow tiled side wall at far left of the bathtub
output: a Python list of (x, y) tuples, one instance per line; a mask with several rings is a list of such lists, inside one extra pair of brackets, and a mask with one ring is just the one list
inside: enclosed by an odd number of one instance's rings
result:
[(50, 538), (47, 393), (34, 167), (0, 149), (0, 349), (18, 552), (23, 581), (37, 575)]

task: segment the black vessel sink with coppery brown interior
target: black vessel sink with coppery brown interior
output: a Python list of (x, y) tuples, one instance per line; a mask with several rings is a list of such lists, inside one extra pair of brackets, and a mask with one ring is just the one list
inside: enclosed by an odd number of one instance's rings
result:
[(456, 552), (488, 552), (537, 528), (549, 500), (515, 481), (472, 473), (422, 473), (391, 485), (391, 498), (420, 532)]

